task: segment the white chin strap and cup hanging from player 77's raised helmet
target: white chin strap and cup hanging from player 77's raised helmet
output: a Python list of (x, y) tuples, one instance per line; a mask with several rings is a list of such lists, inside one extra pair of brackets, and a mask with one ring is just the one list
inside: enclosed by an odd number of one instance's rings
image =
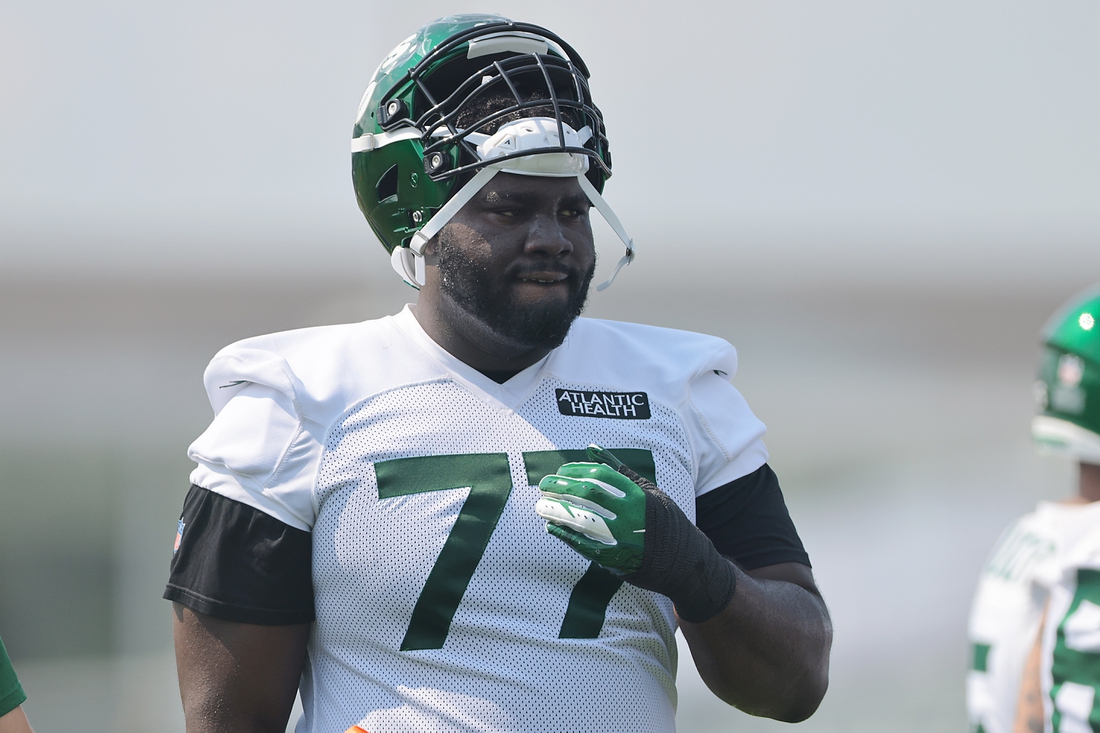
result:
[[(587, 127), (580, 131), (562, 123), (565, 133), (566, 147), (581, 147), (592, 138)], [(477, 154), (483, 161), (492, 161), (505, 155), (520, 153), (525, 150), (546, 150), (561, 147), (558, 136), (558, 122), (549, 117), (530, 117), (510, 122), (502, 127), (493, 135), (470, 133), (466, 139), (477, 143)], [(596, 286), (603, 291), (612, 284), (619, 270), (634, 262), (634, 241), (627, 236), (612, 207), (607, 204), (595, 186), (584, 175), (588, 171), (588, 156), (580, 153), (532, 153), (514, 157), (499, 163), (491, 163), (479, 171), (465, 186), (459, 189), (447, 204), (436, 212), (428, 222), (413, 234), (409, 245), (394, 248), (389, 262), (406, 283), (419, 289), (425, 284), (424, 248), (428, 241), (439, 233), (448, 221), (477, 195), (497, 173), (514, 173), (521, 176), (543, 176), (548, 178), (576, 178), (581, 190), (588, 197), (592, 206), (604, 217), (618, 238), (626, 245), (626, 254), (615, 265), (610, 277)]]

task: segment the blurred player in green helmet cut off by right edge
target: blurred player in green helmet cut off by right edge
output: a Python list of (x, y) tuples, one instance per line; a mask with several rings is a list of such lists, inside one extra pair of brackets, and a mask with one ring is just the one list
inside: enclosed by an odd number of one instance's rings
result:
[(1100, 730), (1098, 320), (1093, 288), (1043, 329), (1032, 436), (1078, 462), (1078, 491), (1016, 519), (982, 570), (969, 624), (971, 731)]

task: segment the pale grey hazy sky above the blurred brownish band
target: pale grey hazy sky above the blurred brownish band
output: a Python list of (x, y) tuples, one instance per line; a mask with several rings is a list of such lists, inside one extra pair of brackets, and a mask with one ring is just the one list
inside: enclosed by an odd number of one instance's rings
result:
[(650, 262), (972, 287), (1100, 263), (1094, 0), (9, 0), (0, 270), (385, 271), (352, 118), (389, 48), (469, 11), (584, 56)]

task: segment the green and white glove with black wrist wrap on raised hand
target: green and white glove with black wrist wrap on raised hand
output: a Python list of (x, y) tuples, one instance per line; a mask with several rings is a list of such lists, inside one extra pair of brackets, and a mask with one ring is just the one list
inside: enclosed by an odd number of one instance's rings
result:
[(539, 482), (547, 532), (626, 582), (667, 595), (684, 621), (706, 621), (734, 595), (734, 566), (651, 481), (609, 451)]

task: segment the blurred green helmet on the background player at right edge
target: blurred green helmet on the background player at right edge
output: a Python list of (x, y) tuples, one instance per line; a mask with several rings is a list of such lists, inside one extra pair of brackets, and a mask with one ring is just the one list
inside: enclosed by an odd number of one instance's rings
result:
[(1038, 447), (1100, 463), (1100, 286), (1069, 300), (1043, 329), (1035, 395)]

